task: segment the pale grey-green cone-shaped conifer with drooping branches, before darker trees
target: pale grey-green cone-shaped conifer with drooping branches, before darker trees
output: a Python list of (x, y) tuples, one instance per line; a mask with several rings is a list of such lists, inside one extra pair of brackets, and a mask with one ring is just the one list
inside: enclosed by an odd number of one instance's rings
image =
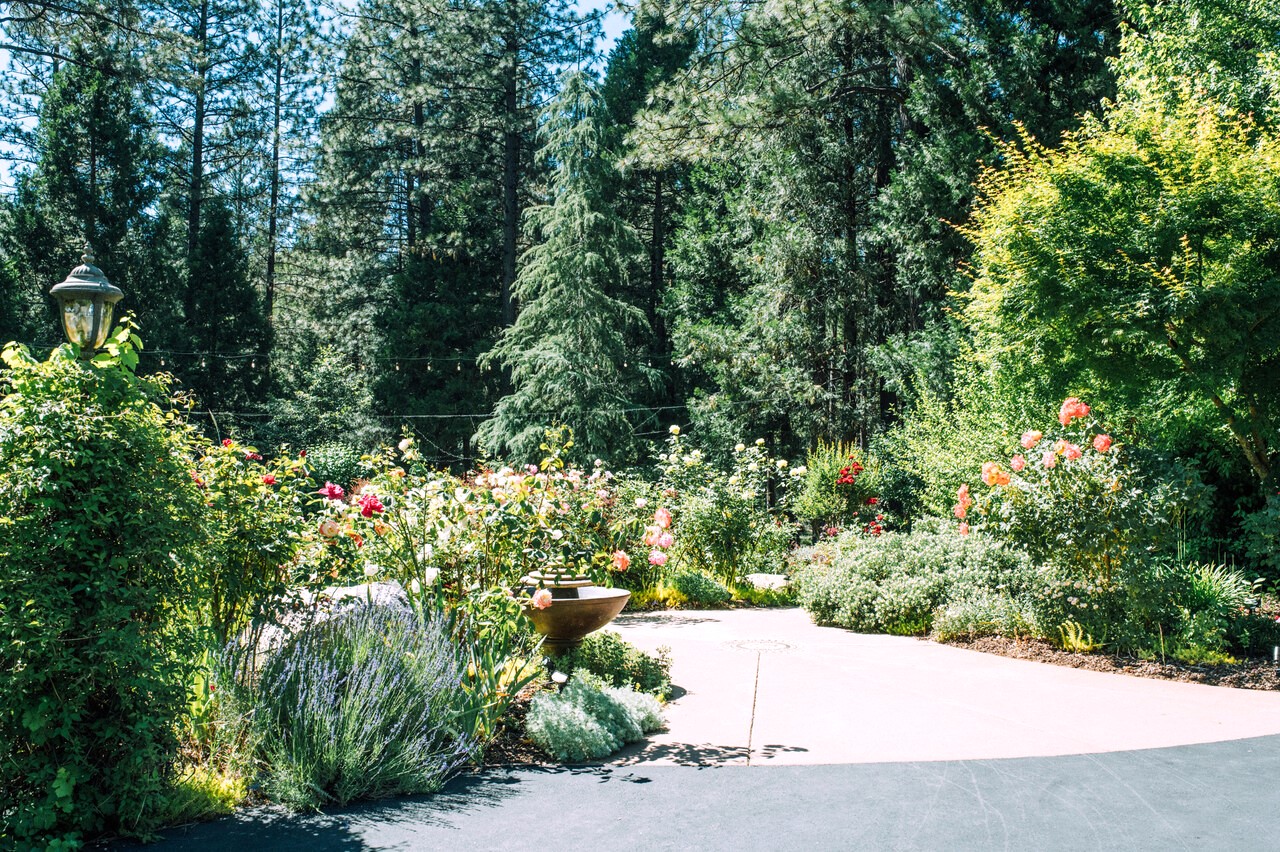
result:
[(564, 78), (544, 120), (550, 200), (529, 212), (540, 239), (516, 279), (522, 310), (489, 354), (511, 371), (515, 390), (480, 427), (480, 440), (531, 461), (544, 432), (566, 425), (580, 454), (621, 463), (635, 450), (630, 409), (654, 376), (627, 343), (628, 329), (644, 329), (644, 312), (617, 297), (643, 247), (603, 194), (611, 162), (586, 73)]

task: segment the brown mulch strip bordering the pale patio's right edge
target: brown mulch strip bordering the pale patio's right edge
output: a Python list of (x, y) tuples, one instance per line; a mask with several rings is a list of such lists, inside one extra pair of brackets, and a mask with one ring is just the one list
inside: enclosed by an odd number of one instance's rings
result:
[(1138, 678), (1206, 683), (1238, 690), (1280, 690), (1280, 673), (1271, 660), (1242, 660), (1230, 665), (1189, 665), (1171, 659), (1160, 661), (1098, 652), (1079, 654), (1053, 647), (1043, 640), (1012, 640), (1001, 636), (983, 636), (947, 643), (984, 654), (1000, 654), (1019, 660), (1068, 665), (1091, 672), (1112, 672)]

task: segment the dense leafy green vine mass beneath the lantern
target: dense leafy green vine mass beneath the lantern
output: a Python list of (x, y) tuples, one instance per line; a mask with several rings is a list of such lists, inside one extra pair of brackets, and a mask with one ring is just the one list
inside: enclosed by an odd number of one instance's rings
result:
[(0, 846), (74, 848), (161, 807), (197, 637), (204, 501), (128, 327), (86, 363), (4, 352)]

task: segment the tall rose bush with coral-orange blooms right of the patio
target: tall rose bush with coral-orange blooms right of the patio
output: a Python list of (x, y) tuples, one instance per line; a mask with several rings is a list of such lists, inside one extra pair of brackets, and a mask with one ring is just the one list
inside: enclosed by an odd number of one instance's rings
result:
[(1166, 571), (1180, 525), (1202, 501), (1190, 468), (1155, 476), (1066, 399), (1059, 429), (1028, 430), (1002, 461), (982, 466), (986, 494), (956, 494), (959, 531), (969, 523), (1024, 549), (1041, 567), (1036, 620), (1047, 638), (1119, 649), (1167, 645), (1190, 618), (1187, 572)]

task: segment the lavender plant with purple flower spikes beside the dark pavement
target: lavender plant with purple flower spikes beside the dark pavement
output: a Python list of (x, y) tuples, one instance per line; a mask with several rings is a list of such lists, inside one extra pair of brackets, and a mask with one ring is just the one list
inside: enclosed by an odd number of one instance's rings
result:
[(477, 747), (457, 724), (466, 667), (442, 615), (357, 603), (296, 633), (253, 673), (224, 655), (227, 686), (264, 770), (297, 809), (439, 789)]

